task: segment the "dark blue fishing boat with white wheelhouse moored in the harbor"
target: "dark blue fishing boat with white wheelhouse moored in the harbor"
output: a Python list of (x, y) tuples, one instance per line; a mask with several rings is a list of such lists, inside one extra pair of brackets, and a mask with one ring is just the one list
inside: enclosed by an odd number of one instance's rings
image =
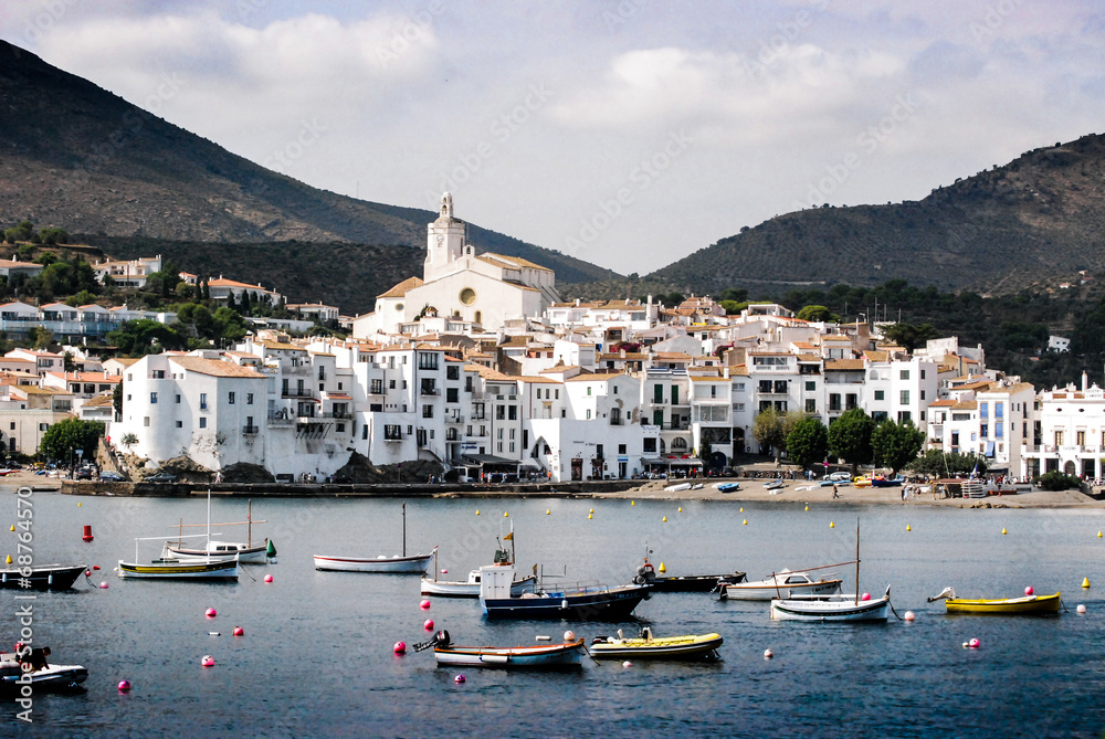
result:
[(573, 585), (560, 590), (538, 588), (514, 598), (517, 579), (513, 567), (480, 568), (480, 606), (488, 619), (576, 619), (621, 621), (652, 591), (650, 585)]

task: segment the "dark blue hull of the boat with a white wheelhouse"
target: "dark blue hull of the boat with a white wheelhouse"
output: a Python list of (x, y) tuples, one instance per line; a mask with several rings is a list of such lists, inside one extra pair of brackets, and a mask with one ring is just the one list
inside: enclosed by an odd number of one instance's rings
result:
[(480, 605), (488, 619), (624, 621), (650, 591), (649, 585), (623, 585), (522, 598), (490, 599), (481, 595)]

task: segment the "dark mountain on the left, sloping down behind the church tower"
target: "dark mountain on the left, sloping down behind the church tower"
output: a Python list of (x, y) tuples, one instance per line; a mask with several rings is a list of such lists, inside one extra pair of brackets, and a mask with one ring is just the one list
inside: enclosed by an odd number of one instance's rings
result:
[[(347, 198), (270, 171), (0, 41), (0, 222), (6, 226), (30, 219), (92, 237), (209, 244), (295, 240), (409, 251), (425, 246), (425, 224), (436, 215)], [(474, 224), (469, 239), (477, 251), (548, 266), (562, 282), (617, 277)], [(356, 251), (345, 249), (343, 256), (356, 258)], [(364, 272), (360, 267), (380, 254), (370, 250), (355, 271)], [(191, 272), (212, 273), (221, 270), (219, 258), (218, 249), (208, 249), (202, 262), (178, 262)], [(398, 252), (390, 258), (406, 256)], [(413, 264), (421, 258), (418, 253)], [(263, 264), (254, 264), (256, 274), (235, 276), (271, 282), (257, 270)], [(330, 278), (346, 279), (344, 268)], [(361, 282), (359, 289), (375, 295), (391, 284)], [(294, 297), (327, 299), (325, 294)]]

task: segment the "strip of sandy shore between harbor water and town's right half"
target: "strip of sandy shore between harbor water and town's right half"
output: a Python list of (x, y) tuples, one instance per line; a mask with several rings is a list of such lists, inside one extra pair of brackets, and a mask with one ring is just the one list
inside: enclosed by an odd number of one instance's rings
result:
[(885, 504), (896, 506), (951, 506), (954, 508), (970, 508), (989, 506), (1006, 506), (1009, 508), (1105, 508), (1105, 502), (1094, 500), (1078, 490), (1040, 490), (1022, 492), (1017, 495), (990, 496), (988, 498), (934, 498), (932, 493), (911, 496), (902, 499), (901, 487), (839, 487), (840, 498), (833, 500), (831, 487), (820, 487), (817, 483), (806, 481), (787, 481), (778, 490), (768, 490), (765, 479), (737, 479), (740, 489), (722, 493), (714, 485), (716, 478), (690, 481), (702, 483), (697, 490), (681, 490), (672, 493), (664, 488), (675, 483), (686, 481), (648, 481), (640, 487), (624, 493), (607, 493), (602, 497), (642, 498), (657, 500), (733, 500), (735, 503), (832, 503), (832, 504)]

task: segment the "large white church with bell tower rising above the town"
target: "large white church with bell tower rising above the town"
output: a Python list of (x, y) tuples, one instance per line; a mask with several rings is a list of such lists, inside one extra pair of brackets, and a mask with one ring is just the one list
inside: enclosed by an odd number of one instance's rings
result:
[(354, 319), (355, 338), (400, 334), (423, 315), (495, 331), (509, 319), (538, 318), (560, 299), (551, 270), (518, 256), (476, 254), (448, 192), (438, 220), (427, 225), (425, 250), (422, 278), (409, 277), (378, 295), (376, 310)]

